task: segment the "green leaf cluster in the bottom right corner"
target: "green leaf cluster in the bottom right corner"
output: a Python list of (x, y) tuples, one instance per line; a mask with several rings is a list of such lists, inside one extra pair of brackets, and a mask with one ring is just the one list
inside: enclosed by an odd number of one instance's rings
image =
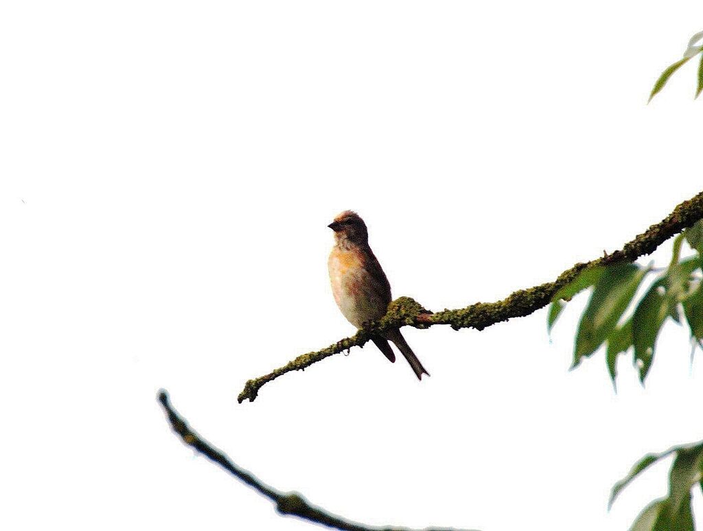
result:
[(703, 442), (644, 456), (623, 480), (614, 485), (608, 507), (640, 473), (671, 454), (676, 454), (676, 457), (669, 472), (669, 495), (647, 505), (633, 523), (631, 531), (695, 531), (691, 489), (695, 485), (703, 489)]

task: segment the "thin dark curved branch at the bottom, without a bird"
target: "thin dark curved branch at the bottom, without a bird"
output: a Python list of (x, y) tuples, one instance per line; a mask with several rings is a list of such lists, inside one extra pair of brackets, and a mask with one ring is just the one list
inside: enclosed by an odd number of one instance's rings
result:
[[(297, 492), (280, 492), (273, 487), (269, 487), (269, 485), (266, 485), (252, 473), (243, 470), (243, 468), (239, 468), (231, 461), (231, 459), (229, 459), (227, 454), (215, 448), (212, 444), (202, 439), (200, 435), (191, 430), (188, 423), (171, 405), (169, 395), (165, 390), (159, 391), (158, 400), (164, 408), (174, 432), (181, 437), (185, 444), (193, 448), (196, 452), (199, 452), (207, 457), (210, 461), (213, 461), (221, 466), (233, 476), (252, 487), (254, 490), (257, 490), (259, 494), (262, 494), (264, 497), (273, 501), (273, 503), (276, 504), (276, 510), (278, 513), (282, 515), (297, 516), (298, 518), (303, 518), (304, 520), (309, 520), (314, 523), (325, 525), (326, 527), (332, 527), (333, 529), (344, 531), (412, 531), (407, 527), (374, 527), (345, 520), (344, 518), (335, 516), (332, 513), (328, 513), (328, 511), (325, 511), (323, 508), (310, 504), (307, 499), (302, 497)], [(453, 530), (449, 528), (441, 529), (439, 527), (432, 527), (427, 528), (425, 531)]]

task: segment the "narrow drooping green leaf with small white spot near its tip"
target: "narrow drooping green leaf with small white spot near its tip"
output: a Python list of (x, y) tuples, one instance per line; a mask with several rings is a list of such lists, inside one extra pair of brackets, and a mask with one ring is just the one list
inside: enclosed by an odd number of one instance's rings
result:
[(665, 275), (652, 284), (632, 316), (632, 343), (635, 345), (635, 360), (642, 382), (652, 366), (659, 329), (669, 314), (669, 304), (664, 295), (666, 278)]

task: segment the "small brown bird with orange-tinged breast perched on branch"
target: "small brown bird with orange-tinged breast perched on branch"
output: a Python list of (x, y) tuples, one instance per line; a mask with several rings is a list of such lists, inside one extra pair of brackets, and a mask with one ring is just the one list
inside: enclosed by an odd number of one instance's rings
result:
[[(386, 314), (392, 300), (390, 283), (368, 245), (368, 229), (361, 216), (344, 210), (328, 227), (335, 231), (335, 245), (328, 260), (335, 302), (347, 321), (356, 328), (363, 328), (364, 324)], [(388, 343), (391, 340), (408, 360), (418, 380), (422, 380), (423, 374), (430, 376), (399, 328), (375, 335), (371, 340), (393, 363), (395, 354)]]

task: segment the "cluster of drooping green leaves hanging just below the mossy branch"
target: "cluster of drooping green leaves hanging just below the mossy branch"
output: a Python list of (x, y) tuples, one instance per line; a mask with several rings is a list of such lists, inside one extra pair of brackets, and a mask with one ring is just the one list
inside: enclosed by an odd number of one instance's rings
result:
[[(681, 260), (684, 241), (695, 254)], [(644, 382), (654, 361), (659, 331), (669, 319), (681, 323), (682, 309), (692, 340), (702, 345), (703, 283), (696, 274), (702, 269), (702, 255), (703, 221), (699, 221), (676, 237), (669, 267), (659, 274), (651, 265), (627, 263), (586, 269), (554, 295), (548, 312), (548, 330), (560, 316), (565, 301), (593, 288), (576, 333), (572, 366), (607, 345), (605, 360), (615, 384), (617, 358), (632, 349), (633, 363), (638, 368), (640, 381)], [(645, 295), (633, 303), (639, 286), (650, 274), (657, 276)]]

